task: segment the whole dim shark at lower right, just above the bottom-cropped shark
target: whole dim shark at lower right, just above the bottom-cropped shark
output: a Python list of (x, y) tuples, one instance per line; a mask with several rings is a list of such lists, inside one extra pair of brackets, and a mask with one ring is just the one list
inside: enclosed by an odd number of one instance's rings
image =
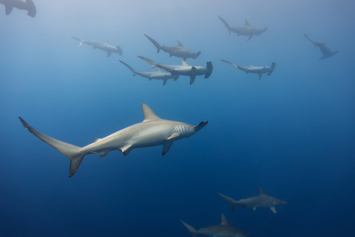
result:
[[(218, 192), (217, 192), (218, 193)], [(221, 195), (225, 200), (227, 200), (232, 205), (232, 211), (234, 211), (237, 205), (241, 205), (244, 207), (251, 207), (253, 210), (256, 208), (269, 208), (272, 212), (276, 213), (275, 206), (279, 204), (288, 204), (283, 200), (273, 198), (265, 194), (264, 190), (259, 186), (259, 196), (254, 196), (251, 198), (246, 199), (239, 199), (238, 201), (229, 198), (223, 194), (218, 193)]]

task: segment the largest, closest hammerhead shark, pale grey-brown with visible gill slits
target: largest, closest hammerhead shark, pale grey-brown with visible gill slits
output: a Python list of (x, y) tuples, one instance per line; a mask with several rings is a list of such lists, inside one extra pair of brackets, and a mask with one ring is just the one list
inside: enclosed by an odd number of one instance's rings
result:
[(93, 143), (84, 147), (51, 138), (32, 128), (21, 117), (18, 118), (20, 118), (24, 128), (27, 128), (37, 138), (70, 159), (69, 177), (75, 174), (84, 156), (88, 154), (101, 154), (100, 157), (103, 157), (110, 151), (119, 150), (127, 156), (135, 148), (163, 145), (162, 155), (164, 156), (174, 141), (189, 138), (208, 124), (207, 120), (195, 126), (161, 119), (144, 103), (142, 104), (142, 109), (144, 115), (143, 122), (133, 124), (105, 138), (94, 139)]

